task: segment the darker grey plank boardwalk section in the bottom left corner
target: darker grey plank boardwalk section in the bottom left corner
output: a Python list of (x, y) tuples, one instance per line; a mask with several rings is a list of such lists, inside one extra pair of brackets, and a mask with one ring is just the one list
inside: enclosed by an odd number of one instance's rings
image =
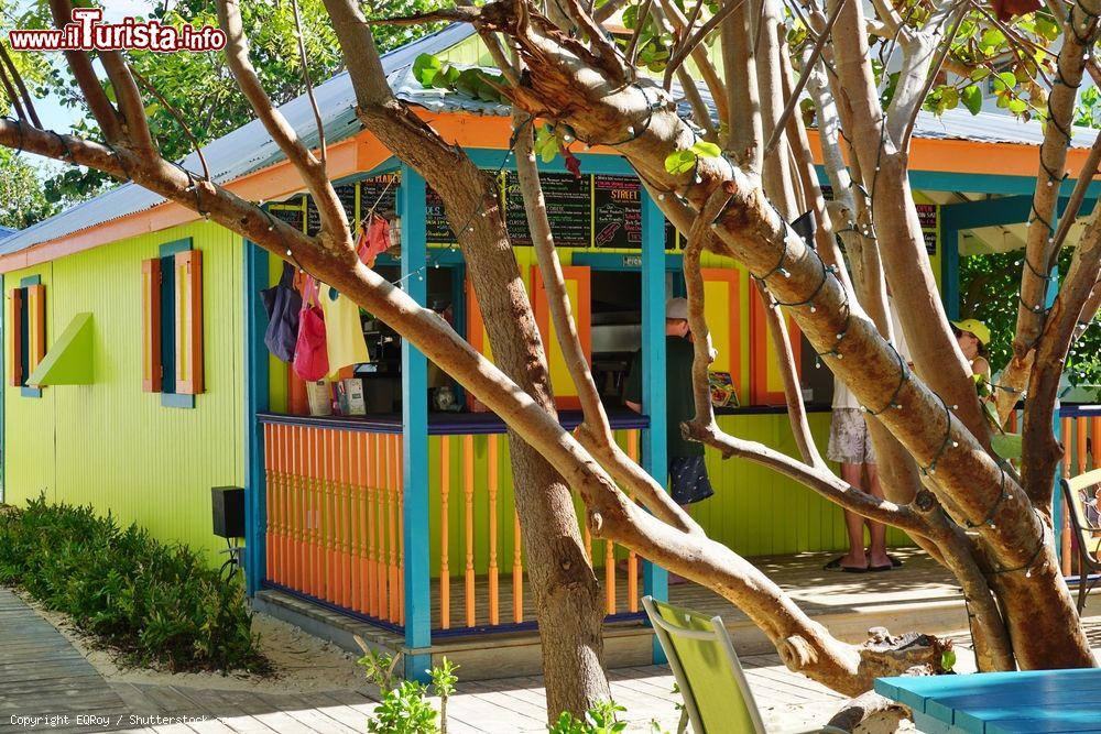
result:
[[(13, 723), (12, 716), (56, 717), (54, 725), (40, 721), (36, 727), (51, 732), (110, 731), (128, 725), (129, 713), (118, 693), (53, 625), (0, 589), (0, 731), (30, 728)], [(78, 725), (77, 716), (90, 715), (102, 719)]]

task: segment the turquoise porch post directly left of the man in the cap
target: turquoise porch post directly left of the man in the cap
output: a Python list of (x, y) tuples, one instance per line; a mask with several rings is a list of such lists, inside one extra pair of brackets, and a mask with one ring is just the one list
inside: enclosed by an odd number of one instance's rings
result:
[[(642, 409), (650, 416), (643, 431), (643, 468), (663, 485), (668, 478), (665, 409), (665, 218), (647, 193), (642, 193)], [(669, 578), (654, 563), (643, 565), (645, 592), (662, 601), (669, 596)], [(654, 637), (653, 660), (665, 662)]]

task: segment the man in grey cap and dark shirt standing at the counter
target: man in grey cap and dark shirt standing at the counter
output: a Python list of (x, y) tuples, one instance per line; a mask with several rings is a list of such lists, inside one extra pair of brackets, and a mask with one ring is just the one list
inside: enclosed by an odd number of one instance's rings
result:
[[(704, 445), (680, 436), (680, 424), (696, 414), (693, 401), (691, 364), (695, 357), (689, 340), (688, 300), (671, 298), (665, 304), (665, 405), (671, 494), (682, 507), (706, 500), (715, 490), (704, 463)], [(642, 413), (642, 350), (635, 352), (623, 386), (623, 402)]]

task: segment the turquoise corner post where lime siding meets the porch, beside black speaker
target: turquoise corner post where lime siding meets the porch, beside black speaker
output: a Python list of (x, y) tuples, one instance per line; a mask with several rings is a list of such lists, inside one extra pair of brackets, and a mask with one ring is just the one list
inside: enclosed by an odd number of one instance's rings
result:
[(244, 581), (250, 596), (268, 576), (268, 486), (263, 429), (257, 414), (268, 410), (268, 315), (260, 289), (268, 287), (268, 251), (244, 240)]

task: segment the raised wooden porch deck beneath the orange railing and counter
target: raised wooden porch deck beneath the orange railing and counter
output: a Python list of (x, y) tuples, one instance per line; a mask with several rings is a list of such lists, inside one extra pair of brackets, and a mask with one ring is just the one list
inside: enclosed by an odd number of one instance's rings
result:
[[(885, 626), (895, 633), (919, 629), (931, 634), (949, 633), (967, 626), (962, 595), (947, 571), (916, 549), (896, 549), (892, 554), (902, 559), (903, 567), (882, 573), (822, 570), (822, 566), (833, 554), (759, 558), (754, 562), (787, 591), (804, 611), (826, 624), (841, 639), (866, 639), (868, 629), (873, 626)], [(601, 570), (598, 570), (598, 576), (603, 582)], [(436, 628), (432, 647), (435, 658), (446, 655), (460, 662), (468, 679), (530, 676), (539, 670), (538, 635), (533, 629), (534, 607), (526, 588), (523, 621), (528, 625), (527, 628), (504, 628), (487, 633), (483, 626), (489, 623), (484, 604), (488, 599), (488, 581), (483, 577), (478, 578), (473, 594), (475, 624), (481, 628), (464, 629), (464, 579), (454, 577), (453, 600), (458, 599), (459, 603), (453, 604), (450, 610), (451, 627), (442, 631), (438, 594), (435, 593), (437, 583), (434, 581), (432, 609), (433, 626)], [(641, 578), (637, 590), (641, 595)], [(626, 612), (628, 583), (622, 570), (617, 573), (615, 591), (617, 610), (620, 613)], [(500, 593), (500, 622), (510, 625), (513, 622), (511, 578), (508, 582), (501, 579)], [(721, 616), (739, 654), (774, 651), (772, 644), (744, 614), (710, 590), (693, 583), (674, 584), (669, 588), (669, 596), (675, 604)], [(353, 635), (390, 651), (402, 649), (404, 643), (399, 634), (287, 594), (263, 591), (258, 594), (255, 604), (263, 612), (284, 618), (349, 650), (358, 649)], [(651, 633), (641, 618), (607, 624), (604, 639), (609, 667), (650, 665)]]

